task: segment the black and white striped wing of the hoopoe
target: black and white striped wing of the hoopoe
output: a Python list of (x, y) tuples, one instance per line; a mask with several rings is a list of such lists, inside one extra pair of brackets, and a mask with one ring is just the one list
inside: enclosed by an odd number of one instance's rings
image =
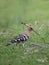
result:
[(12, 43), (20, 43), (20, 42), (24, 42), (28, 39), (29, 39), (29, 36), (27, 36), (26, 34), (19, 34), (13, 40), (11, 40), (11, 42)]

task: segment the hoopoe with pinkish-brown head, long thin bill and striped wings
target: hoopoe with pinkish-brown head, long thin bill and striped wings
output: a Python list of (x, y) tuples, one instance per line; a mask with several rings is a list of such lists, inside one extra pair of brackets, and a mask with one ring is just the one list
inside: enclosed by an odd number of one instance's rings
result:
[[(8, 44), (6, 46), (9, 46), (9, 45), (11, 45), (13, 43), (16, 43), (16, 45), (17, 45), (18, 43), (20, 43), (20, 42), (23, 43), (24, 41), (27, 41), (29, 39), (30, 33), (32, 31), (34, 31), (34, 29), (29, 24), (26, 24), (26, 23), (23, 23), (23, 22), (21, 24), (23, 24), (23, 25), (26, 26), (25, 32), (23, 32), (23, 33), (18, 34), (17, 36), (15, 36), (10, 42), (8, 42)], [(34, 32), (37, 33), (36, 31), (34, 31)]]

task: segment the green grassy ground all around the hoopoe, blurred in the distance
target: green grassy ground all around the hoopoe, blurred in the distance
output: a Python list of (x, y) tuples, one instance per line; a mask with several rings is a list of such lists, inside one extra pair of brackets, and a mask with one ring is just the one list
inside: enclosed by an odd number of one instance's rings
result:
[[(33, 32), (24, 48), (22, 44), (6, 47), (25, 30), (21, 21), (31, 24), (40, 36)], [(49, 65), (49, 46), (30, 47), (31, 43), (49, 45), (49, 0), (0, 0), (0, 65)]]

